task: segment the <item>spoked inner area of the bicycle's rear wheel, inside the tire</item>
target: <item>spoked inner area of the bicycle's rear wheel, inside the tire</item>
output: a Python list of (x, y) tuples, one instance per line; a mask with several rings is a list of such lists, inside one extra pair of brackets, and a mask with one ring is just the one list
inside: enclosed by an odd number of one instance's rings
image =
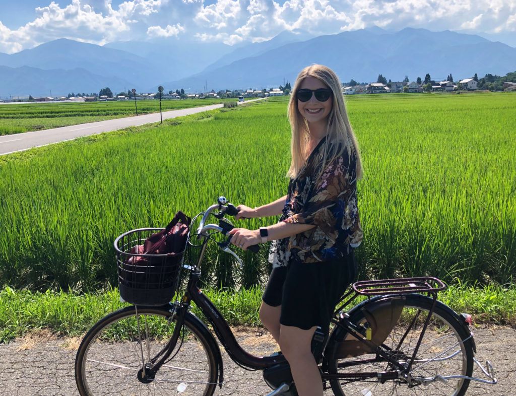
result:
[[(430, 300), (431, 301), (431, 300)], [(363, 372), (391, 372), (399, 370), (394, 362), (407, 367), (419, 342), (425, 321), (428, 318), (428, 308), (411, 306), (406, 304), (401, 312), (399, 322), (394, 326), (388, 337), (383, 341), (386, 352), (393, 361), (383, 359), (382, 361), (368, 361), (374, 359), (376, 353), (363, 354), (362, 356), (344, 358), (335, 361), (330, 373), (354, 373), (360, 377)], [(355, 319), (354, 323), (363, 325), (366, 322), (363, 314), (360, 320)], [(331, 380), (332, 389), (337, 396), (361, 395), (366, 393), (369, 396), (399, 395), (399, 396), (420, 396), (425, 394), (436, 394), (444, 396), (457, 396), (464, 384), (463, 380), (426, 382), (425, 385), (417, 378), (435, 377), (436, 375), (465, 375), (465, 346), (457, 328), (451, 326), (436, 311), (432, 312), (428, 326), (421, 340), (421, 344), (415, 356), (411, 368), (412, 385), (404, 379), (388, 379), (375, 384), (365, 385), (363, 381), (341, 382)], [(454, 322), (455, 323), (455, 322)], [(373, 336), (374, 337), (374, 336)], [(399, 349), (397, 349), (399, 346)], [(335, 346), (335, 348), (338, 348)], [(392, 352), (389, 352), (389, 348)], [(342, 365), (341, 365), (342, 363)], [(348, 363), (348, 365), (345, 365)], [(335, 371), (333, 371), (335, 370)], [(365, 386), (364, 386), (365, 385)], [(431, 385), (431, 386), (427, 386)]]

